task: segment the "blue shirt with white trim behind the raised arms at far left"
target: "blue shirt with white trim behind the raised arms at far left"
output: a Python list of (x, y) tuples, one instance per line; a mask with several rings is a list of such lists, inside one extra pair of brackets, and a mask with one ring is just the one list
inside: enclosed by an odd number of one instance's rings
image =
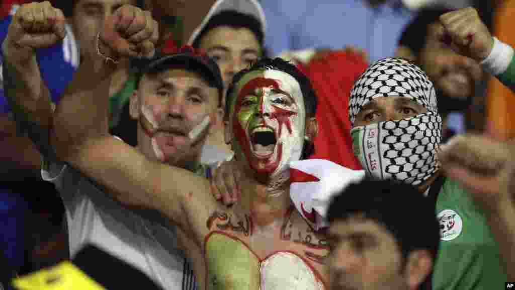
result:
[[(0, 21), (0, 43), (4, 42), (7, 35), (7, 28), (11, 22), (11, 17)], [(62, 42), (47, 49), (37, 52), (37, 60), (41, 71), (41, 76), (46, 82), (54, 103), (59, 101), (59, 95), (64, 90), (68, 82), (72, 80), (76, 68), (72, 65), (73, 50), (76, 50), (75, 43)], [(0, 71), (3, 63), (3, 56), (0, 50)], [(9, 112), (10, 108), (5, 99), (3, 90), (3, 77), (0, 73), (0, 113)]]

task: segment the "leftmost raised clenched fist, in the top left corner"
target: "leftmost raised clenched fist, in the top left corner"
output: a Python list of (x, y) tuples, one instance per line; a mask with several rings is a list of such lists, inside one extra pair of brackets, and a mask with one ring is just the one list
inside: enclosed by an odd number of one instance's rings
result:
[(16, 10), (4, 41), (16, 50), (34, 53), (61, 41), (65, 23), (63, 12), (48, 1), (24, 4)]

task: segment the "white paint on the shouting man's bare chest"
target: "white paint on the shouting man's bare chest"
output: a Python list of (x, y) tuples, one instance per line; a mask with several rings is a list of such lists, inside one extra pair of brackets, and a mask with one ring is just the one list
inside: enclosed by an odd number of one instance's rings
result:
[(261, 262), (261, 290), (323, 290), (313, 270), (298, 255), (277, 252)]

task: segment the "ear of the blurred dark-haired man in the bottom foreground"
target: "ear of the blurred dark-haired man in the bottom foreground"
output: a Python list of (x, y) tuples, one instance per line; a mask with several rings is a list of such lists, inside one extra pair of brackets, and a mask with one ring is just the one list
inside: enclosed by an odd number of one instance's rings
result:
[(406, 281), (410, 289), (418, 289), (433, 269), (433, 259), (427, 250), (409, 253), (406, 261)]

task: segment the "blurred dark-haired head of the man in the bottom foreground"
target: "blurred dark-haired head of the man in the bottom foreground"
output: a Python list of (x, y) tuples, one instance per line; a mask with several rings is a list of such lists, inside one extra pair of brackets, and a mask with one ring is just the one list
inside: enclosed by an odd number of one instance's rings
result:
[(331, 200), (327, 219), (331, 289), (416, 290), (430, 276), (440, 227), (417, 188), (392, 180), (352, 183)]

